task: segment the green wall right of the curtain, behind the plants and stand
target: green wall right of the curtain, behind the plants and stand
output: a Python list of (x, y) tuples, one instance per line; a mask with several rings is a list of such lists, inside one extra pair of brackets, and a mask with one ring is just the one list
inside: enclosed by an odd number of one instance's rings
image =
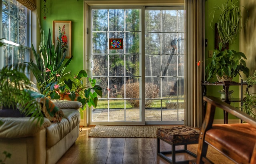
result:
[[(214, 11), (214, 8), (216, 7), (216, 5), (218, 6), (222, 6), (222, 3), (226, 2), (226, 0), (206, 0), (206, 7), (205, 7), (205, 11), (206, 11), (206, 16), (205, 16), (205, 20), (206, 20), (206, 29), (205, 29), (205, 36), (208, 39), (208, 46), (206, 47), (205, 50), (205, 64), (207, 64), (208, 62), (210, 62), (212, 60), (212, 58), (208, 58), (208, 50), (213, 50), (214, 51), (214, 34), (215, 34), (215, 30), (212, 29), (211, 27), (211, 20), (212, 20), (212, 12)], [(212, 26), (214, 28), (214, 24), (218, 21), (218, 18), (214, 18), (214, 23), (212, 23)], [(229, 49), (233, 49), (236, 51), (239, 51), (239, 36), (237, 37), (237, 40), (234, 44), (229, 45)], [(217, 78), (215, 78), (214, 80), (212, 80), (211, 82), (215, 82), (217, 81)], [(233, 78), (233, 81), (239, 82), (239, 76), (236, 76), (235, 78)], [(216, 97), (220, 97), (220, 93), (218, 93), (218, 90), (222, 90), (222, 86), (207, 86), (207, 95), (211, 95), (211, 96), (216, 96)], [(238, 98), (239, 97), (239, 86), (230, 86), (229, 90), (234, 90), (234, 93), (232, 94), (233, 97)], [(234, 105), (236, 107), (239, 106), (238, 103), (235, 104), (231, 104)], [(235, 119), (234, 116), (231, 116), (229, 114), (229, 118), (230, 119)], [(215, 119), (223, 119), (223, 112), (220, 109), (217, 109), (215, 112)]]

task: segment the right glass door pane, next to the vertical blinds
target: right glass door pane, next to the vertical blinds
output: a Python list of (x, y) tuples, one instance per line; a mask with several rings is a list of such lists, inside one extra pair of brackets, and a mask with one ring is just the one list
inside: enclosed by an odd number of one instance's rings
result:
[(145, 121), (184, 121), (184, 10), (145, 10)]

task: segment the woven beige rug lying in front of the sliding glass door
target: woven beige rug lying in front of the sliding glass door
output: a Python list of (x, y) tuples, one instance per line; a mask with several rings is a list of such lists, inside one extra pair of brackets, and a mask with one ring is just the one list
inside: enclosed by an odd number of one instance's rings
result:
[(89, 137), (136, 137), (136, 138), (156, 138), (157, 128), (168, 126), (95, 126)]

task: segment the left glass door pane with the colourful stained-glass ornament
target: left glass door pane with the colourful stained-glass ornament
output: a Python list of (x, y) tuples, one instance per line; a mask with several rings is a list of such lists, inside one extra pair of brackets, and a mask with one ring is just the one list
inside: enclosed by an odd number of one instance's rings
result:
[[(91, 77), (106, 90), (97, 108), (90, 110), (89, 124), (141, 122), (141, 10), (91, 11)], [(110, 39), (123, 39), (123, 47), (111, 49)]]

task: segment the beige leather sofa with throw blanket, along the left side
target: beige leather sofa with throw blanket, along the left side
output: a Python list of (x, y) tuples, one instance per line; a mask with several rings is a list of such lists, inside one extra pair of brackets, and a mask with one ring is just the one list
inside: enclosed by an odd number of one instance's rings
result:
[(0, 160), (11, 153), (6, 164), (55, 164), (79, 135), (80, 102), (57, 100), (64, 117), (60, 123), (44, 118), (42, 126), (30, 117), (0, 117)]

